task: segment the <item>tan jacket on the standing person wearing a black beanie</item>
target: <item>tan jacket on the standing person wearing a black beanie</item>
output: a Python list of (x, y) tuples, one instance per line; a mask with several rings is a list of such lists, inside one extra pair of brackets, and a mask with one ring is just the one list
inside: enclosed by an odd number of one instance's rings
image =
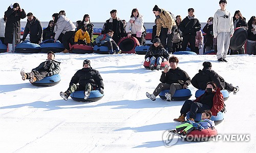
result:
[(173, 26), (176, 26), (176, 23), (172, 15), (170, 15), (170, 13), (164, 9), (160, 9), (159, 18), (157, 19), (156, 35), (160, 35), (161, 28), (168, 28), (168, 30), (172, 30)]

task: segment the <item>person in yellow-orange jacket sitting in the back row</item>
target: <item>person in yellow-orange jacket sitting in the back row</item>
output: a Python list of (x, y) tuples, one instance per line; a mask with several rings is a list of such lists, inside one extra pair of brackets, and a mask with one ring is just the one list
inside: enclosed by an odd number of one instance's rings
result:
[(85, 27), (79, 29), (74, 37), (75, 44), (90, 45), (91, 39)]

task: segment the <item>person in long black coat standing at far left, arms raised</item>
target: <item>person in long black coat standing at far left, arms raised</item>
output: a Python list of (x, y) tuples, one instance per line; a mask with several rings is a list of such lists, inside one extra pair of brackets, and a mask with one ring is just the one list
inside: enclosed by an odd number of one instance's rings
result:
[(15, 45), (20, 42), (20, 19), (26, 17), (26, 12), (18, 3), (9, 6), (5, 11), (7, 16), (5, 27), (5, 43), (9, 43), (9, 51), (15, 50)]

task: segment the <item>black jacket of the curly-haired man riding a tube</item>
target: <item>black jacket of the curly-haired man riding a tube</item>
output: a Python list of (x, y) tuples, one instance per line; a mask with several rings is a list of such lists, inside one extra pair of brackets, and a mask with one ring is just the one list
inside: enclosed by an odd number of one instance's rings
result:
[(181, 70), (179, 67), (176, 68), (175, 70), (169, 69), (167, 73), (162, 72), (160, 81), (162, 83), (179, 83), (180, 85), (189, 85), (191, 83), (190, 77), (188, 74)]

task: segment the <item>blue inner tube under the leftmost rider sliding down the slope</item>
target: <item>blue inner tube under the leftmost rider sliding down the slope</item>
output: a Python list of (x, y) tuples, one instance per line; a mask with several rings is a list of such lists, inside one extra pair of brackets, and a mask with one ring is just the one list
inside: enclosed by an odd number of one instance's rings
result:
[(50, 77), (45, 77), (44, 79), (41, 79), (39, 81), (35, 81), (32, 84), (35, 86), (53, 86), (53, 85), (58, 84), (59, 81), (60, 81), (60, 75), (55, 74)]

